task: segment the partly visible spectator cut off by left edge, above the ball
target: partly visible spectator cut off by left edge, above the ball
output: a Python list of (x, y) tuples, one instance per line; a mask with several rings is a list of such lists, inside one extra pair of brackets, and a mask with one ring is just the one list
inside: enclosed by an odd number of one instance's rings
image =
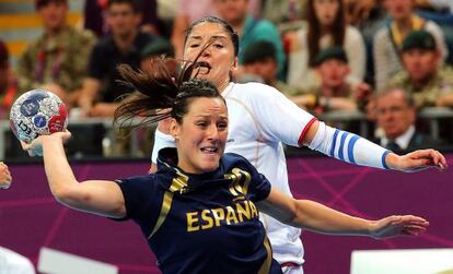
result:
[(0, 119), (8, 117), (18, 93), (18, 84), (9, 62), (7, 45), (0, 40)]

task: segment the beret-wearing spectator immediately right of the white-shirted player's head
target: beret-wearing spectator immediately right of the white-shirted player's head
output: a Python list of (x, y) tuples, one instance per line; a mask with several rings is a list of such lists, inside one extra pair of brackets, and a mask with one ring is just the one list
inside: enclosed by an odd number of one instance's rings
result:
[(257, 76), (259, 80), (256, 82), (274, 86), (287, 95), (298, 93), (295, 87), (291, 87), (278, 80), (277, 50), (270, 41), (258, 40), (248, 45), (244, 50), (242, 65), (243, 73), (237, 80), (241, 83), (251, 82), (245, 81), (245, 79)]

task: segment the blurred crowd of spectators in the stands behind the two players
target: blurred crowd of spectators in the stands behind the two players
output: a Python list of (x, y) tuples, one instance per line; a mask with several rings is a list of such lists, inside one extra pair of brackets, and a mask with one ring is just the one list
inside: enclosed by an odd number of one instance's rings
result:
[(394, 151), (453, 140), (432, 138), (417, 119), (453, 107), (453, 1), (88, 0), (76, 26), (69, 4), (34, 1), (44, 32), (14, 68), (0, 40), (2, 118), (38, 87), (62, 98), (71, 119), (111, 118), (117, 98), (133, 92), (118, 81), (118, 64), (147, 71), (152, 57), (184, 59), (184, 32), (214, 15), (240, 36), (236, 82), (271, 85), (321, 117), (361, 112), (375, 129), (369, 138)]

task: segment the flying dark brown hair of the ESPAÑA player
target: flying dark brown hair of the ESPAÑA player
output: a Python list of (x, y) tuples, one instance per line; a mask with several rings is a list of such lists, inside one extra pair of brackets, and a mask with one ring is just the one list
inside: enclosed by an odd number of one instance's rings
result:
[(114, 114), (114, 124), (137, 128), (169, 117), (181, 123), (194, 98), (221, 98), (225, 103), (212, 83), (196, 79), (196, 70), (200, 65), (197, 59), (186, 62), (179, 71), (178, 61), (164, 57), (150, 60), (152, 71), (135, 71), (128, 64), (118, 65), (124, 79), (121, 82), (137, 92), (121, 99)]

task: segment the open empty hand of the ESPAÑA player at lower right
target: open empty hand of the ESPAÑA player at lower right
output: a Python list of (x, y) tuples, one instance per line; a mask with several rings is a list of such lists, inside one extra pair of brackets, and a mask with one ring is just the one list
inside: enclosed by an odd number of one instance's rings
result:
[(425, 233), (429, 223), (418, 216), (388, 216), (371, 224), (370, 234), (375, 239), (384, 239), (396, 236), (418, 236)]

